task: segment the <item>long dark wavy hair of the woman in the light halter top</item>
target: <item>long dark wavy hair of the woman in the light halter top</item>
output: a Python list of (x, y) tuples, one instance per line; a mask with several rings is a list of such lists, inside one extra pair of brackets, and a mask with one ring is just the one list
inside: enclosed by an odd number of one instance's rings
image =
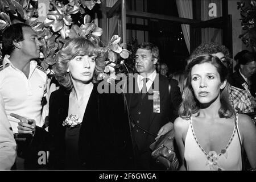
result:
[[(189, 64), (185, 69), (185, 74), (187, 76), (187, 81), (184, 88), (184, 98), (181, 102), (179, 108), (179, 114), (181, 118), (189, 119), (192, 114), (200, 111), (199, 101), (196, 100), (195, 95), (193, 93), (193, 88), (191, 85), (191, 70), (196, 64), (210, 63), (214, 65), (217, 69), (218, 74), (220, 75), (221, 83), (223, 83), (228, 76), (228, 71), (224, 64), (221, 63), (220, 59), (216, 56), (212, 56), (209, 54), (199, 55), (193, 57)], [(221, 118), (230, 118), (234, 115), (234, 109), (229, 102), (229, 84), (227, 82), (224, 89), (220, 90), (220, 102), (221, 107), (218, 110), (218, 114)]]

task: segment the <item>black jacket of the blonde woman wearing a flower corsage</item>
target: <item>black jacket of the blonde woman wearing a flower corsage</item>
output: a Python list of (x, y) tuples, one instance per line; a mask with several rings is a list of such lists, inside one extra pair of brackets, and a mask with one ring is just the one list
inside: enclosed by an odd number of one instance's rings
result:
[[(49, 168), (65, 169), (65, 127), (69, 94), (61, 88), (49, 100), (49, 133), (36, 127), (31, 146), (48, 147)], [(129, 118), (122, 94), (90, 95), (79, 135), (81, 169), (134, 169)], [(47, 144), (42, 144), (47, 143)]]

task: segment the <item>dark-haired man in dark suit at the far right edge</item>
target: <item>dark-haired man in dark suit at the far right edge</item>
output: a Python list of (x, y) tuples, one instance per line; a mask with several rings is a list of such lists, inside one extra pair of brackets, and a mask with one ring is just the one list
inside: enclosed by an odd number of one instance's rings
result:
[(256, 72), (256, 55), (249, 51), (238, 52), (234, 59), (238, 60), (238, 71), (229, 80), (232, 86), (247, 90), (255, 97), (256, 86), (253, 77)]

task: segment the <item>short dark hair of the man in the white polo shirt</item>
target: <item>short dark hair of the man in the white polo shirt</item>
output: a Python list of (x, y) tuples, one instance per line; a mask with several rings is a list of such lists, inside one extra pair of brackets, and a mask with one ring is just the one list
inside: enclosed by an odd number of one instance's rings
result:
[(28, 24), (25, 23), (15, 23), (11, 24), (9, 27), (3, 31), (2, 35), (2, 53), (3, 56), (10, 55), (14, 49), (14, 42), (20, 42), (24, 40), (23, 37), (23, 27), (30, 27)]

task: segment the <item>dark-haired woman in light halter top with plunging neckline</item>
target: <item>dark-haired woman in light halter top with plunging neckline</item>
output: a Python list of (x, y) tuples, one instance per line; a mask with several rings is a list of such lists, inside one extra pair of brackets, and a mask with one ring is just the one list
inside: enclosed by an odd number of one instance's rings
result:
[(256, 128), (250, 117), (234, 113), (225, 66), (217, 57), (200, 55), (192, 58), (186, 71), (180, 117), (174, 123), (180, 169), (241, 170), (240, 140), (255, 168)]

